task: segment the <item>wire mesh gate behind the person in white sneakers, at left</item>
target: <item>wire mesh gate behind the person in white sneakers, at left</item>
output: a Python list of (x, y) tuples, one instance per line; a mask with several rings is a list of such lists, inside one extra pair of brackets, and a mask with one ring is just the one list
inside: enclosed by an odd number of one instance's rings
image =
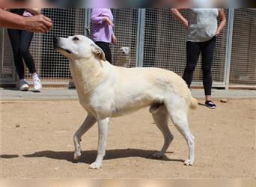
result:
[[(47, 34), (34, 34), (30, 46), (37, 73), (44, 85), (68, 85), (71, 74), (68, 60), (52, 46), (55, 36), (67, 37), (74, 34), (85, 34), (86, 9), (43, 9), (42, 13), (53, 21), (53, 28)], [(13, 68), (13, 54), (7, 31), (1, 29), (1, 76), (0, 82), (14, 82), (15, 69)], [(25, 77), (31, 83), (31, 75), (25, 68)]]

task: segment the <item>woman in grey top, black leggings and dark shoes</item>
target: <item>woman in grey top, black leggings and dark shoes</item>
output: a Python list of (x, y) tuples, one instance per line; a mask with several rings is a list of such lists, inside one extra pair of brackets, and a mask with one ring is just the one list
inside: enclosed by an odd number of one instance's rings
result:
[[(189, 19), (183, 17), (176, 8), (171, 8), (171, 13), (186, 27), (186, 68), (183, 79), (190, 88), (195, 66), (201, 53), (205, 105), (209, 108), (216, 108), (211, 97), (213, 85), (211, 67), (216, 47), (216, 37), (219, 37), (226, 24), (224, 9), (188, 9)], [(219, 24), (218, 19), (220, 20)]]

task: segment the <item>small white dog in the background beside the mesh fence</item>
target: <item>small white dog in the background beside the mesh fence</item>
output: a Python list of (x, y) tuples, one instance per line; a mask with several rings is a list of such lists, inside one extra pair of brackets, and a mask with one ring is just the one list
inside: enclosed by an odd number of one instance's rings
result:
[(131, 49), (127, 46), (122, 46), (118, 50), (117, 66), (119, 66), (119, 67), (129, 67), (130, 52), (131, 52)]

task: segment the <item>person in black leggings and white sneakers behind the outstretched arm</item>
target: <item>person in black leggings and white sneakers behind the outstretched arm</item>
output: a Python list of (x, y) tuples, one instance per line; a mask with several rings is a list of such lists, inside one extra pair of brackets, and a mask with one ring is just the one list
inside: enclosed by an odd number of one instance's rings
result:
[[(16, 13), (20, 16), (25, 12), (24, 9), (10, 10), (12, 13)], [(28, 13), (28, 12), (26, 12)], [(29, 14), (29, 13), (28, 13)], [(19, 86), (21, 91), (28, 91), (28, 82), (25, 80), (24, 64), (28, 67), (29, 73), (32, 75), (34, 91), (40, 91), (42, 85), (40, 79), (37, 76), (37, 70), (34, 65), (34, 59), (29, 52), (29, 46), (33, 38), (34, 33), (24, 30), (7, 29), (10, 43), (13, 49), (14, 64), (16, 67), (16, 73), (19, 76)]]

